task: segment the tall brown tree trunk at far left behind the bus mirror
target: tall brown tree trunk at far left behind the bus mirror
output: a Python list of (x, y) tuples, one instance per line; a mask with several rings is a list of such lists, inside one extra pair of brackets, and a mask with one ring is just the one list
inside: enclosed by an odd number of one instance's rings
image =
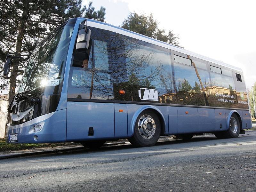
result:
[[(29, 1), (24, 1), (22, 6), (22, 16), (20, 18), (20, 23), (18, 26), (18, 35), (17, 35), (17, 44), (15, 47), (15, 53), (21, 52), (21, 46), (23, 37), (25, 34), (25, 27), (26, 27), (26, 21), (28, 17), (28, 8), (29, 8)], [(15, 96), (15, 89), (16, 89), (16, 79), (18, 74), (18, 67), (19, 67), (19, 59), (16, 58), (12, 62), (12, 69), (11, 69), (11, 76), (10, 76), (10, 85), (8, 89), (8, 106), (10, 105), (13, 97)], [(5, 126), (5, 137), (7, 132), (7, 124), (10, 122), (10, 113), (7, 113), (6, 118), (6, 126)]]

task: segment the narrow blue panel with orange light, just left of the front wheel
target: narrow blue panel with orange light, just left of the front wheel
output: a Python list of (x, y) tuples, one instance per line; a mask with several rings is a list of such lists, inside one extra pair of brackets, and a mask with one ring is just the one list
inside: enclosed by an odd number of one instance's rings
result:
[(127, 104), (115, 103), (115, 138), (127, 137)]

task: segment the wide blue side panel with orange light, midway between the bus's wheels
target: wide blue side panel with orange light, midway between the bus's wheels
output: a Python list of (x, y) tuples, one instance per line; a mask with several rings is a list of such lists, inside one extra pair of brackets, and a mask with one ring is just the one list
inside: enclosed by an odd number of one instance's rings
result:
[(178, 107), (178, 133), (198, 132), (198, 110), (192, 107)]

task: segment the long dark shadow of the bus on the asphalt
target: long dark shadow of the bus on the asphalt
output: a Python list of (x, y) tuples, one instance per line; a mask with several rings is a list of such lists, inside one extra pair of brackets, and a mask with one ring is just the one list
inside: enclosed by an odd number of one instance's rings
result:
[[(162, 150), (162, 149), (184, 150), (188, 148), (206, 147), (206, 146), (219, 145), (219, 144), (232, 143), (232, 142), (235, 142), (235, 143), (243, 142), (244, 140), (248, 140), (250, 137), (254, 137), (254, 134), (252, 134), (251, 136), (251, 134), (248, 133), (246, 135), (241, 135), (238, 138), (232, 138), (232, 139), (217, 139), (214, 135), (195, 136), (191, 140), (175, 140), (175, 139), (172, 139), (172, 137), (162, 137), (159, 139), (156, 145), (152, 147), (135, 148), (131, 144), (121, 144), (121, 145), (105, 146), (99, 149), (84, 148), (84, 149), (68, 150), (63, 152), (52, 152), (48, 154), (33, 155), (33, 157), (36, 158), (36, 157), (44, 156), (45, 158), (47, 158), (51, 156), (54, 156), (54, 157), (76, 156), (79, 154), (92, 155), (92, 153), (95, 153), (95, 155), (96, 153), (128, 154), (132, 149), (136, 149), (137, 152), (141, 152), (141, 153)], [(27, 156), (27, 157), (32, 157), (32, 156)], [(27, 158), (27, 157), (21, 157), (21, 158)]]

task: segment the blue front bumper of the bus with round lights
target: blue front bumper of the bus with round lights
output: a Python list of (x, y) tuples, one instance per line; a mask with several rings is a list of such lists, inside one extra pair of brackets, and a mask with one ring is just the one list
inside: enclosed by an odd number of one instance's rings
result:
[[(40, 131), (34, 126), (41, 125)], [(7, 125), (7, 143), (53, 143), (66, 141), (67, 110), (42, 115), (19, 125)], [(18, 142), (10, 142), (10, 134), (17, 133)], [(38, 138), (36, 140), (36, 138)]]

